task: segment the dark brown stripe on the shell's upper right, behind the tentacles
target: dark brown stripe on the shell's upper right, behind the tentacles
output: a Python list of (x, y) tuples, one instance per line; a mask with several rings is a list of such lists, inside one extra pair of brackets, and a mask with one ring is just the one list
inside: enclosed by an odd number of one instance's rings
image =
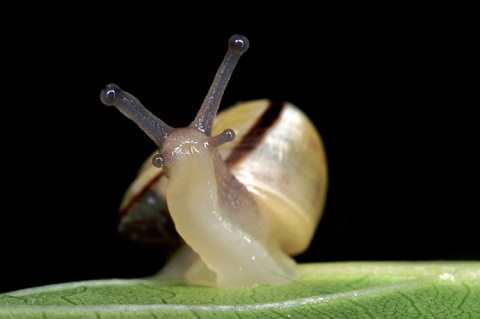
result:
[(269, 129), (280, 119), (284, 107), (284, 102), (270, 101), (270, 104), (258, 118), (257, 122), (243, 135), (242, 139), (225, 160), (229, 167), (240, 163), (258, 147)]

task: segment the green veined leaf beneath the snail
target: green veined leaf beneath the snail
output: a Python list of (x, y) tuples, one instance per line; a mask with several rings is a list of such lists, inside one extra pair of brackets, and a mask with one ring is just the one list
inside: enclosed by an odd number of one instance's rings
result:
[(480, 262), (301, 264), (288, 285), (221, 289), (153, 279), (0, 295), (0, 318), (480, 318)]

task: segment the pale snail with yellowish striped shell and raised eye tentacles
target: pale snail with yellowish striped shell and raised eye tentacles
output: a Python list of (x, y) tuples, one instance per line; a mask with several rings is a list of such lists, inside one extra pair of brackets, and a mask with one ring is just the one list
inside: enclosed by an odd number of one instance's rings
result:
[(327, 160), (305, 113), (260, 99), (216, 114), (248, 47), (245, 36), (230, 37), (200, 110), (184, 128), (168, 126), (115, 84), (100, 93), (158, 147), (125, 193), (119, 230), (179, 247), (159, 277), (215, 287), (288, 283), (297, 275), (293, 256), (308, 248), (319, 224)]

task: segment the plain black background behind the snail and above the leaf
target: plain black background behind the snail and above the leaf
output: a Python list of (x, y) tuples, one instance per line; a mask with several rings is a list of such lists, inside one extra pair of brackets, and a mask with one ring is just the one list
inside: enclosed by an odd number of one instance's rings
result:
[(99, 93), (117, 83), (187, 125), (234, 33), (250, 49), (222, 108), (289, 100), (325, 143), (327, 204), (298, 261), (480, 260), (468, 9), (36, 9), (19, 11), (3, 42), (2, 292), (161, 267), (116, 232), (123, 192), (154, 144)]

